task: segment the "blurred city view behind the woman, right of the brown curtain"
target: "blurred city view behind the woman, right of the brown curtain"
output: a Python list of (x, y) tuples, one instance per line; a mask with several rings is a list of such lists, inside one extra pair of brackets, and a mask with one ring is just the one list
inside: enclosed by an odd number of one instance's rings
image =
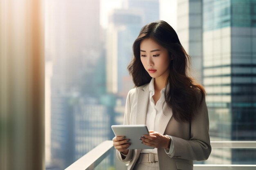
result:
[[(114, 137), (134, 86), (132, 43), (156, 20), (173, 26), (191, 55), (211, 141), (256, 140), (256, 0), (47, 0), (47, 165), (66, 168)], [(255, 149), (215, 149), (207, 163), (255, 161)]]

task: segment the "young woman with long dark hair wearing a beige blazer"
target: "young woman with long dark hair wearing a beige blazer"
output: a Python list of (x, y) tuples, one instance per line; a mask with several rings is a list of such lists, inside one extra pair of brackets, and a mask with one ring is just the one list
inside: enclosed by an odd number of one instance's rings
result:
[(189, 55), (174, 29), (162, 20), (144, 26), (128, 66), (135, 88), (127, 95), (124, 124), (146, 124), (141, 143), (155, 149), (129, 150), (114, 137), (117, 158), (128, 170), (193, 170), (193, 160), (211, 153), (204, 88), (188, 75)]

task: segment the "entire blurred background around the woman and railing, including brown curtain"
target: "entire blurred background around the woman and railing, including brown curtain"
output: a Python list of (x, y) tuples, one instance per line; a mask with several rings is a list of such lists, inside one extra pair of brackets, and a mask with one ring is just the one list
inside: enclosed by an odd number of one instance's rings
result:
[[(191, 56), (211, 141), (256, 141), (256, 0), (0, 0), (0, 169), (63, 170), (112, 140), (132, 43), (157, 20)], [(194, 163), (255, 162), (245, 144)], [(121, 170), (113, 154), (101, 169)]]

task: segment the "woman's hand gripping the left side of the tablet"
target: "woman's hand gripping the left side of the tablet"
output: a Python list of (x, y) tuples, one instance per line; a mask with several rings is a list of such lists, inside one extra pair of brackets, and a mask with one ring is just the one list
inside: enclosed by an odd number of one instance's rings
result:
[(126, 139), (123, 136), (121, 136), (121, 137), (115, 136), (112, 139), (112, 141), (113, 141), (113, 145), (114, 145), (115, 149), (117, 149), (119, 152), (122, 152), (124, 155), (127, 155), (128, 147), (131, 145), (131, 143), (129, 142), (130, 139)]

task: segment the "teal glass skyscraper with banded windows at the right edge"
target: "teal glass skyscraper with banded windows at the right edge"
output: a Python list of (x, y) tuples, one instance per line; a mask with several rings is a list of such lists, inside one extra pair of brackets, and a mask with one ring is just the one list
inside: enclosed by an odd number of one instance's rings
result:
[[(212, 141), (256, 140), (254, 6), (254, 0), (203, 0), (203, 85)], [(231, 164), (253, 164), (245, 155), (256, 154), (229, 152)], [(220, 163), (221, 152), (211, 155), (211, 163)]]

